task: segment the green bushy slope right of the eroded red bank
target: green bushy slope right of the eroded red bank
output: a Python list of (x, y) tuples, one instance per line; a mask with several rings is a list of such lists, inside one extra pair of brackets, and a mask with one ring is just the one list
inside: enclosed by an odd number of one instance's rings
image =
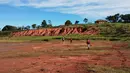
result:
[(109, 23), (98, 25), (100, 35), (113, 37), (130, 37), (130, 24)]

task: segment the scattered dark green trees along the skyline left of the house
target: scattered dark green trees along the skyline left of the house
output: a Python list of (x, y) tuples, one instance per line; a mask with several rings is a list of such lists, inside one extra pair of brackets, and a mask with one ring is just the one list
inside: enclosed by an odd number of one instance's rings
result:
[[(86, 24), (88, 22), (87, 18), (84, 18), (83, 22)], [(79, 21), (76, 20), (74, 24), (79, 24)], [(64, 23), (65, 26), (70, 26), (72, 25), (72, 22), (70, 20), (66, 20)], [(30, 30), (32, 29), (41, 29), (41, 28), (51, 28), (52, 26), (52, 21), (48, 20), (48, 24), (46, 20), (43, 20), (41, 25), (37, 24), (32, 24), (31, 26), (21, 26), (21, 27), (16, 27), (16, 26), (11, 26), (11, 25), (6, 25), (3, 27), (2, 31), (22, 31), (22, 30)]]

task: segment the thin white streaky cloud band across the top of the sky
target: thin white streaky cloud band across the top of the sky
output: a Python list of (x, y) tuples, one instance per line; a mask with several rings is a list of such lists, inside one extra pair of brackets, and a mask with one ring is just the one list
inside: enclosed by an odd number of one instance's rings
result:
[(0, 4), (46, 8), (46, 11), (102, 18), (115, 13), (130, 13), (130, 0), (0, 0)]

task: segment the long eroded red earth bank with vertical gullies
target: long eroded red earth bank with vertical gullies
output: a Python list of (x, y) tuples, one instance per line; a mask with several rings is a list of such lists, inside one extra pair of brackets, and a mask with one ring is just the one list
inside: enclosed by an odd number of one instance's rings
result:
[(13, 32), (13, 36), (58, 36), (67, 34), (85, 34), (95, 35), (99, 30), (96, 27), (90, 27), (84, 30), (82, 27), (64, 27), (64, 28), (46, 28), (37, 30), (26, 30), (20, 32)]

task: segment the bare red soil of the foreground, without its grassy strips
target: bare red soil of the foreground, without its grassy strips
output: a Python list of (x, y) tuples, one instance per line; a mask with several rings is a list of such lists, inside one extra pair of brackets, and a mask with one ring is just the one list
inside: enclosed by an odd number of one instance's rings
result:
[[(87, 65), (102, 65), (111, 67), (121, 67), (122, 59), (126, 67), (130, 67), (130, 51), (129, 50), (115, 50), (115, 45), (110, 41), (94, 41), (92, 47), (102, 47), (99, 50), (108, 50), (110, 52), (101, 52), (97, 54), (80, 54), (77, 56), (58, 56), (58, 55), (40, 55), (38, 57), (23, 57), (23, 58), (0, 58), (0, 73), (90, 73), (87, 70)], [(2, 46), (3, 45), (3, 46)], [(116, 46), (124, 48), (127, 43), (117, 43)], [(79, 46), (85, 47), (85, 41), (73, 41), (70, 44), (68, 41), (62, 43), (60, 41), (50, 41), (43, 43), (0, 43), (0, 52), (5, 51), (55, 51), (55, 49), (75, 50)], [(113, 47), (114, 46), (114, 47)], [(110, 47), (110, 48), (109, 48)], [(5, 48), (6, 50), (3, 50)], [(12, 49), (10, 49), (12, 48)], [(85, 49), (84, 49), (85, 50)], [(86, 49), (87, 50), (87, 49)], [(88, 50), (89, 51), (89, 50)], [(91, 50), (90, 50), (91, 51)], [(120, 56), (120, 53), (123, 56)]]

